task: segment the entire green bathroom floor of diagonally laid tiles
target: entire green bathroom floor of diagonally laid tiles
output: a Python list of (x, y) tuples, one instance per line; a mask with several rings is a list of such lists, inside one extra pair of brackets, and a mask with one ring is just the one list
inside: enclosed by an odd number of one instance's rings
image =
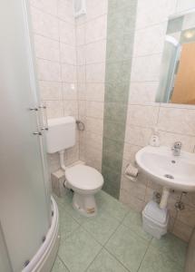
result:
[(187, 244), (171, 234), (151, 238), (141, 214), (100, 191), (98, 215), (84, 218), (72, 207), (72, 193), (55, 197), (61, 245), (52, 272), (183, 272)]

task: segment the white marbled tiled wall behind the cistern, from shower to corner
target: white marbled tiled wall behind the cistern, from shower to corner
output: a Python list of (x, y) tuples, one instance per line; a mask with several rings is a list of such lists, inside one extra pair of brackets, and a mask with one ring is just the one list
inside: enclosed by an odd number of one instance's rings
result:
[[(78, 117), (75, 22), (72, 0), (31, 0), (34, 47), (41, 99), (48, 118)], [(74, 89), (73, 89), (74, 87)], [(78, 137), (77, 137), (78, 138)], [(59, 168), (49, 156), (50, 170)], [(79, 140), (65, 152), (65, 162), (79, 159)]]

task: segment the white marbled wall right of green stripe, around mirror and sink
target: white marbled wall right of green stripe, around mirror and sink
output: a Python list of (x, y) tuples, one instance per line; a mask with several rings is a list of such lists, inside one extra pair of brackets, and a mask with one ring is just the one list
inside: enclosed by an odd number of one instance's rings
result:
[[(183, 150), (190, 152), (194, 151), (195, 146), (195, 106), (154, 103), (160, 79), (167, 16), (180, 13), (195, 4), (193, 1), (175, 0), (149, 2), (138, 1), (123, 170), (128, 161), (134, 162), (135, 152), (148, 144), (154, 127), (159, 129), (162, 145), (171, 146), (174, 141), (182, 141)], [(141, 210), (151, 199), (154, 189), (161, 191), (161, 187), (143, 175), (137, 182), (127, 180), (122, 175), (120, 199), (133, 209)], [(170, 230), (188, 240), (195, 226), (195, 195), (182, 197), (185, 202), (182, 211), (174, 208), (179, 198), (179, 192), (171, 193)]]

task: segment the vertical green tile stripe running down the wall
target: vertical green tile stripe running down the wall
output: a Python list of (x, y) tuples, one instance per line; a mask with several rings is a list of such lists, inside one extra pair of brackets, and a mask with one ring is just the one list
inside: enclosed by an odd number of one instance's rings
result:
[(102, 142), (103, 189), (119, 198), (137, 0), (109, 0)]

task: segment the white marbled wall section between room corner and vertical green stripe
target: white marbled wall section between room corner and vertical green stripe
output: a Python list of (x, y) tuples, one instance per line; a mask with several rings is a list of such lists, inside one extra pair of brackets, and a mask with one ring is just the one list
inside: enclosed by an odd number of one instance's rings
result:
[(102, 168), (103, 102), (106, 54), (107, 1), (86, 0), (87, 14), (76, 19), (80, 159)]

